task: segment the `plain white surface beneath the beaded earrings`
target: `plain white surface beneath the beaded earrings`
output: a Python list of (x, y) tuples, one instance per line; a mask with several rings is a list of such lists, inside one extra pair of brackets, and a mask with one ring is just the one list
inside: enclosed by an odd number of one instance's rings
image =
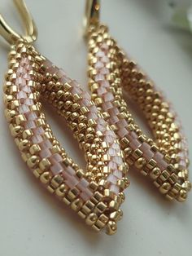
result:
[[(81, 37), (84, 0), (27, 2), (39, 29), (37, 49), (85, 85), (86, 47)], [(170, 28), (167, 1), (102, 2), (103, 22), (172, 100), (191, 147), (191, 36)], [(12, 24), (20, 24), (15, 8), (11, 7), (11, 0), (1, 0), (1, 12)], [(7, 70), (7, 52), (8, 46), (1, 38), (1, 82)], [(169, 203), (141, 175), (130, 174), (124, 218), (116, 236), (96, 234), (39, 186), (20, 158), (2, 110), (1, 101), (1, 256), (190, 254), (191, 195), (185, 204)], [(63, 125), (63, 119), (54, 115), (50, 114), (48, 120), (55, 134), (72, 157), (85, 166), (71, 132)]]

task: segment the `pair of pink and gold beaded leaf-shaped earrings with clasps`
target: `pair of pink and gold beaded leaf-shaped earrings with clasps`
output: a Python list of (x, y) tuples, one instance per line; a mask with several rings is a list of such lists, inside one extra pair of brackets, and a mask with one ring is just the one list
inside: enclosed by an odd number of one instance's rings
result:
[[(33, 19), (24, 0), (15, 3), (27, 34), (15, 33), (0, 16), (0, 33), (11, 43), (5, 113), (21, 156), (37, 179), (85, 223), (109, 235), (116, 232), (122, 217), (129, 166), (149, 177), (168, 199), (185, 201), (191, 187), (189, 160), (177, 115), (99, 23), (99, 1), (87, 0), (86, 4), (90, 95), (34, 48), (37, 29)], [(123, 89), (142, 109), (155, 141), (133, 120)], [(41, 111), (41, 96), (68, 121), (85, 152), (86, 170), (68, 157), (53, 135)]]

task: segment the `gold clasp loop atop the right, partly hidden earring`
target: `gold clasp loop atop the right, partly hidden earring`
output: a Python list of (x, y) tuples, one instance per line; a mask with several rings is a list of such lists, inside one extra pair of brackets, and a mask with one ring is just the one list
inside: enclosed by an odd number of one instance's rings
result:
[(86, 0), (85, 18), (84, 18), (85, 35), (87, 34), (89, 26), (91, 24), (98, 23), (99, 14), (100, 14), (100, 0)]

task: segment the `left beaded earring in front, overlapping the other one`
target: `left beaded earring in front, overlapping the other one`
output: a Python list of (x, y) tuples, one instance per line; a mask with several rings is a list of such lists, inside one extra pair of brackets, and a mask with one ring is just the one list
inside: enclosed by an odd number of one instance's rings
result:
[[(128, 165), (119, 140), (87, 92), (39, 54), (32, 42), (37, 29), (24, 0), (15, 0), (26, 25), (20, 36), (0, 16), (0, 33), (11, 44), (4, 102), (11, 135), (21, 156), (48, 191), (70, 205), (94, 230), (116, 232)], [(86, 170), (81, 170), (52, 133), (41, 111), (47, 99), (65, 117), (80, 148)]]

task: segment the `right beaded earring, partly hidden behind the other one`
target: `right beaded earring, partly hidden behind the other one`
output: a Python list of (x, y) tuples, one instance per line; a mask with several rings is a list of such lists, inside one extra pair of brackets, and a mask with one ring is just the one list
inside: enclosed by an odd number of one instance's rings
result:
[[(129, 166), (151, 179), (169, 200), (185, 201), (188, 149), (177, 114), (153, 82), (140, 71), (99, 23), (100, 1), (86, 1), (85, 37), (89, 48), (89, 88), (94, 103), (120, 138)], [(146, 117), (155, 142), (142, 133), (124, 101), (135, 100)]]

